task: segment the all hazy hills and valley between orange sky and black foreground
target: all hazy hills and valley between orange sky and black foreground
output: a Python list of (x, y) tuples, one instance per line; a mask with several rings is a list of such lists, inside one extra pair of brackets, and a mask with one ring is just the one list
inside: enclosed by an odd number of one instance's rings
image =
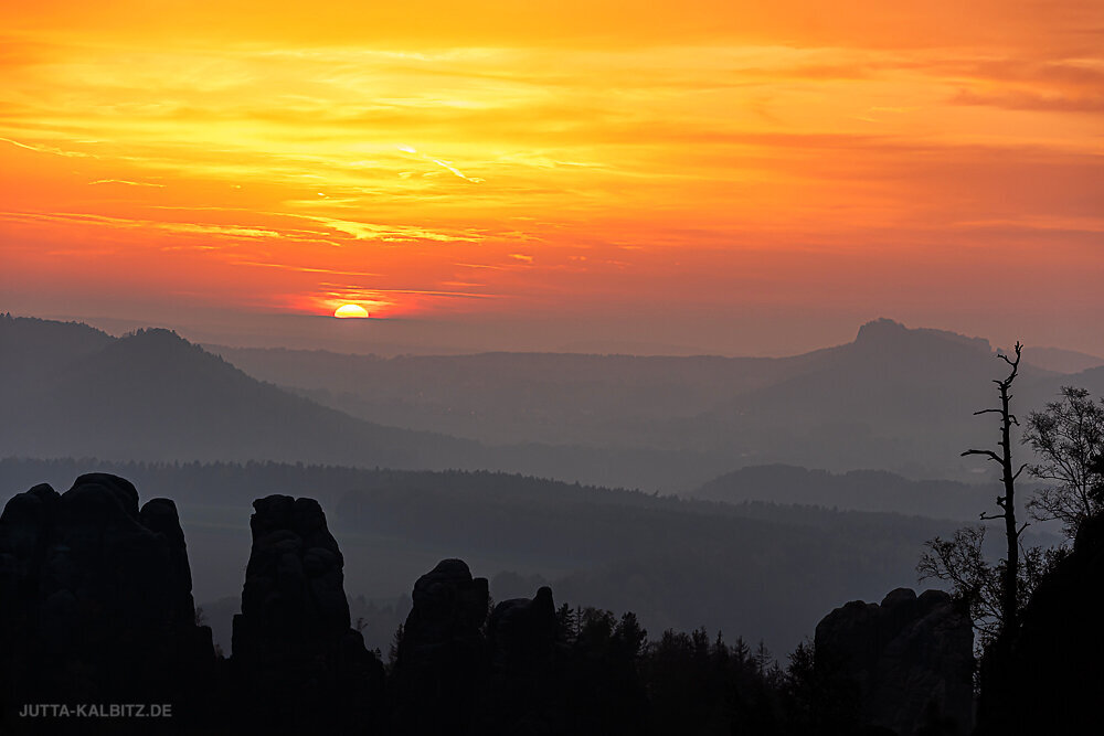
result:
[[(548, 583), (651, 631), (754, 632), (777, 651), (838, 601), (914, 580), (923, 543), (992, 494), (958, 457), (991, 431), (969, 414), (992, 348), (884, 319), (776, 359), (384, 359), (11, 317), (0, 346), (3, 487), (99, 470), (174, 498), (224, 647), (241, 576), (226, 561), (244, 564), (250, 504), (270, 492), (327, 509), (374, 647), (410, 579), (463, 556), (496, 598)], [(1041, 407), (1066, 384), (1102, 392), (1104, 367), (1026, 364), (1017, 399)]]

